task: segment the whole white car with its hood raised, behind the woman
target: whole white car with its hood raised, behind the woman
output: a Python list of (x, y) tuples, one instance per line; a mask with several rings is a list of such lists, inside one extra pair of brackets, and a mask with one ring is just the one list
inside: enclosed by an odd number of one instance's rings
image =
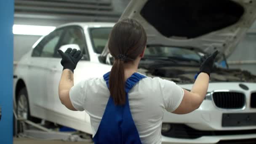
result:
[[(137, 19), (148, 42), (139, 72), (162, 77), (190, 90), (200, 56), (220, 51), (225, 61), (256, 19), (256, 0), (131, 0), (120, 19)], [(37, 118), (91, 134), (90, 117), (61, 104), (62, 72), (57, 49), (84, 54), (75, 83), (110, 71), (105, 47), (113, 23), (72, 23), (38, 40), (14, 71), (14, 96), (20, 117)], [(245, 48), (246, 51), (246, 48)], [(162, 141), (166, 144), (256, 143), (256, 76), (240, 69), (217, 67), (211, 73), (201, 106), (186, 115), (166, 112)]]

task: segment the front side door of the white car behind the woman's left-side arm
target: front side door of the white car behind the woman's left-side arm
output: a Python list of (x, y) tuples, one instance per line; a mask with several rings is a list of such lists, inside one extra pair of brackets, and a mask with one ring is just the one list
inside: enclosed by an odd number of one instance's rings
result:
[[(49, 108), (55, 112), (55, 115), (66, 115), (67, 117), (71, 118), (77, 118), (79, 120), (85, 121), (85, 118), (87, 120), (89, 119), (88, 115), (85, 115), (85, 112), (74, 112), (69, 109), (67, 109), (63, 104), (61, 104), (61, 101), (59, 100), (59, 81), (61, 78), (61, 73), (63, 70), (63, 67), (61, 66), (61, 56), (57, 52), (59, 48), (64, 48), (67, 49), (67, 46), (72, 46), (72, 45), (77, 45), (75, 48), (80, 49), (83, 53), (83, 58), (79, 62), (80, 64), (83, 63), (83, 66), (86, 67), (89, 61), (89, 55), (86, 47), (86, 41), (85, 41), (85, 36), (83, 29), (78, 26), (69, 26), (65, 28), (64, 35), (58, 45), (58, 47), (55, 49), (55, 58), (51, 60), (51, 65), (53, 67), (53, 71), (51, 71), (51, 74), (48, 75), (48, 80), (51, 81), (51, 84), (48, 87), (48, 100), (49, 100)], [(73, 48), (73, 47), (72, 47)], [(77, 75), (79, 68), (80, 67), (78, 64), (77, 68), (75, 70), (75, 75)], [(77, 83), (79, 80), (75, 78), (75, 83)], [(55, 122), (58, 122), (60, 120), (53, 120)]]

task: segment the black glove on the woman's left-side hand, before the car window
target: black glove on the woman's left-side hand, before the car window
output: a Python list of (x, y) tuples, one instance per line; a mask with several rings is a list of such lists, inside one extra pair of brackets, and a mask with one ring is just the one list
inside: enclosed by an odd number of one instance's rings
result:
[(64, 69), (70, 69), (74, 73), (74, 69), (77, 66), (78, 61), (83, 57), (81, 51), (77, 51), (76, 49), (68, 48), (65, 53), (63, 51), (58, 50), (59, 54), (61, 55), (61, 65)]

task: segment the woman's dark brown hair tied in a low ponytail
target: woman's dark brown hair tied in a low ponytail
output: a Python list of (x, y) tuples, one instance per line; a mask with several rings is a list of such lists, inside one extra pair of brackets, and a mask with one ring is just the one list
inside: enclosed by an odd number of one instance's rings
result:
[(143, 52), (146, 43), (146, 32), (136, 20), (119, 21), (111, 31), (108, 47), (115, 61), (109, 75), (109, 91), (117, 105), (125, 104), (124, 63), (134, 61)]

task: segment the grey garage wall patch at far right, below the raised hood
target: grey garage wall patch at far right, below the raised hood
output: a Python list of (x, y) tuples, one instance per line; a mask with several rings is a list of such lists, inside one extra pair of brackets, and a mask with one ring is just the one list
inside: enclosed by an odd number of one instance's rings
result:
[(227, 60), (230, 68), (245, 69), (256, 75), (256, 22)]

